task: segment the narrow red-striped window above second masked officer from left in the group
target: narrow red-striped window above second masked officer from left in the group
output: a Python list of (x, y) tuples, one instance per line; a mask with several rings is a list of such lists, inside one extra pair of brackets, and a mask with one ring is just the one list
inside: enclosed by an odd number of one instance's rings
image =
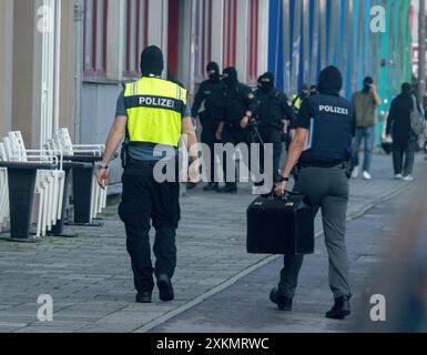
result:
[(224, 0), (224, 68), (234, 67), (236, 63), (236, 29), (237, 0)]

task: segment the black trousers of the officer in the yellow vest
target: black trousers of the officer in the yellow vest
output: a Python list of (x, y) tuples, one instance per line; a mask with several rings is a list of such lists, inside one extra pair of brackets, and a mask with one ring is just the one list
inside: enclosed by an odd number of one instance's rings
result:
[[(155, 162), (131, 161), (123, 173), (123, 194), (119, 215), (126, 230), (126, 247), (132, 261), (138, 292), (154, 288), (153, 272), (173, 277), (176, 267), (175, 235), (181, 219), (180, 184), (157, 183)], [(155, 268), (151, 261), (149, 232), (155, 229)]]

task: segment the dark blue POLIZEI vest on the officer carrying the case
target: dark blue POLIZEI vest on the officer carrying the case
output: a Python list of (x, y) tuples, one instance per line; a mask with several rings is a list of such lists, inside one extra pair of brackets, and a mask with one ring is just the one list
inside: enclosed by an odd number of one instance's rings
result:
[(339, 97), (315, 95), (309, 99), (312, 112), (311, 144), (302, 154), (303, 165), (339, 164), (352, 150), (354, 109)]

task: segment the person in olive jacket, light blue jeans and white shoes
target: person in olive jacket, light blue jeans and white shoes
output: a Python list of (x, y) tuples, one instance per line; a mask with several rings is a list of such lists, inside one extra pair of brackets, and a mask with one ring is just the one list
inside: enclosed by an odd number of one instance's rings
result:
[(375, 140), (375, 116), (376, 110), (382, 100), (374, 84), (374, 79), (366, 77), (362, 91), (353, 95), (352, 103), (356, 112), (356, 138), (353, 146), (353, 160), (355, 169), (353, 178), (359, 174), (359, 149), (362, 141), (365, 141), (365, 161), (363, 165), (363, 178), (372, 180), (370, 164), (373, 160), (374, 140)]

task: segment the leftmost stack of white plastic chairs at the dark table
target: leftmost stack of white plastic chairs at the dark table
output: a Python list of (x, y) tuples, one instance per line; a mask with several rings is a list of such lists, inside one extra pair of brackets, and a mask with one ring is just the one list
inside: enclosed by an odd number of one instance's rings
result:
[(45, 236), (61, 217), (65, 173), (62, 170), (62, 152), (53, 150), (27, 150), (20, 132), (9, 132), (3, 139), (6, 160), (55, 164), (55, 170), (38, 170), (34, 193), (39, 195), (37, 237)]

